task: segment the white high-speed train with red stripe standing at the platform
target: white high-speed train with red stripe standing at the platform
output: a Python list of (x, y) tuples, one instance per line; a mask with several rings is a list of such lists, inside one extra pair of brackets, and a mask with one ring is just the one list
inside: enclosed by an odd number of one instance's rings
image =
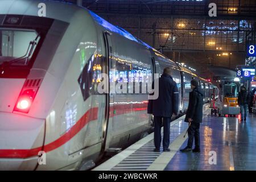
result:
[(192, 77), (209, 100), (212, 84), (122, 28), (69, 3), (43, 1), (40, 17), (41, 2), (0, 1), (0, 169), (87, 169), (147, 133), (148, 94), (99, 94), (100, 73), (141, 81), (172, 67), (180, 112)]

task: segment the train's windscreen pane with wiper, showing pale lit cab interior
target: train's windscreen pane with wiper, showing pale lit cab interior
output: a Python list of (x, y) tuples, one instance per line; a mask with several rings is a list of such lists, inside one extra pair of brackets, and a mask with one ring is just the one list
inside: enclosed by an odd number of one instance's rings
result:
[(0, 65), (28, 65), (39, 40), (34, 30), (0, 28)]

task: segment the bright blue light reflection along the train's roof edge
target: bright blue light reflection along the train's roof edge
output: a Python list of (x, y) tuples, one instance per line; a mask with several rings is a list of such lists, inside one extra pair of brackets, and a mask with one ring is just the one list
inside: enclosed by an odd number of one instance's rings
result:
[(127, 39), (133, 40), (139, 44), (142, 44), (143, 46), (146, 46), (147, 48), (151, 48), (150, 46), (148, 46), (148, 44), (142, 42), (141, 40), (138, 40), (137, 38), (135, 38), (133, 35), (131, 35), (129, 32), (127, 32), (126, 30), (124, 30), (123, 28), (119, 28), (114, 26), (113, 24), (107, 22), (105, 19), (101, 18), (100, 16), (98, 16), (97, 14), (93, 13), (92, 11), (89, 11), (89, 13), (93, 16), (93, 19), (100, 24), (101, 26), (105, 27), (106, 29), (108, 29), (109, 31), (115, 32), (121, 36), (124, 36)]

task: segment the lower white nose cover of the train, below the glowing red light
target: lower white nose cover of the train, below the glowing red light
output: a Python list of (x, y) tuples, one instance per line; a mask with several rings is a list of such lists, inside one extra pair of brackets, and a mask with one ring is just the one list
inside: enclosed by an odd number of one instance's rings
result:
[(0, 112), (0, 170), (33, 170), (44, 141), (44, 119)]

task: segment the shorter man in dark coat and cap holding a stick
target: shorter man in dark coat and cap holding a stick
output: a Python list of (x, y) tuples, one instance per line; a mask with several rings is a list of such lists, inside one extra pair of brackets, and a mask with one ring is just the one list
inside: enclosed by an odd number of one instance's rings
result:
[[(199, 82), (191, 81), (192, 92), (189, 93), (189, 103), (185, 122), (189, 123), (188, 127), (188, 144), (181, 149), (181, 152), (200, 152), (200, 123), (203, 122), (203, 90), (199, 87)], [(195, 137), (195, 148), (192, 150), (193, 139)]]

